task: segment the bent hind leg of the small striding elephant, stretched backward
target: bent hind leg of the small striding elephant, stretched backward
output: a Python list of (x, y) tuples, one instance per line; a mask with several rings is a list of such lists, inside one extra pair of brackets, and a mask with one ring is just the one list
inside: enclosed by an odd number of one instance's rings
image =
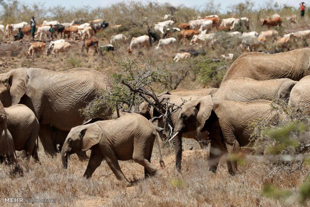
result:
[[(151, 146), (153, 143), (151, 144)], [(144, 166), (144, 169), (150, 174), (150, 175), (156, 175), (158, 174), (158, 170), (155, 166), (153, 166), (148, 159), (150, 159), (152, 149), (150, 149), (150, 144), (142, 148), (142, 147), (135, 147), (133, 149), (132, 159)], [(144, 171), (145, 172), (145, 171)]]

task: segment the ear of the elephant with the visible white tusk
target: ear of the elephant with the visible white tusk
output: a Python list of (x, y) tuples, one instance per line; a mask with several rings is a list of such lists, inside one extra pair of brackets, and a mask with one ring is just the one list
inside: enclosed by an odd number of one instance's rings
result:
[(213, 108), (211, 95), (206, 95), (199, 98), (195, 103), (195, 112), (197, 120), (197, 131), (202, 131), (205, 122), (210, 117)]

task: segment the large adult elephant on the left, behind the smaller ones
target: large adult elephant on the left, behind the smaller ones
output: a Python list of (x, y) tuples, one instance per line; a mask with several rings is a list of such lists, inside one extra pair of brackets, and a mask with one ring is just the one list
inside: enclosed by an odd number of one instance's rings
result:
[[(54, 154), (63, 137), (52, 138), (52, 127), (69, 131), (83, 123), (79, 112), (106, 89), (107, 78), (101, 72), (87, 68), (52, 71), (41, 68), (17, 68), (0, 75), (0, 100), (4, 107), (22, 103), (29, 107), (40, 123), (39, 138), (46, 152)], [(97, 116), (106, 118), (106, 115)]]

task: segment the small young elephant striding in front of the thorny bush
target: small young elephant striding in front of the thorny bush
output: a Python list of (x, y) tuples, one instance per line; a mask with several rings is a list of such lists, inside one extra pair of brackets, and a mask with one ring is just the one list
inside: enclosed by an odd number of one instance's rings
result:
[(163, 166), (158, 143), (158, 133), (145, 117), (128, 113), (111, 120), (90, 119), (83, 125), (71, 128), (62, 149), (61, 159), (67, 168), (68, 154), (91, 149), (90, 158), (83, 176), (91, 177), (93, 171), (104, 158), (118, 180), (130, 185), (119, 165), (119, 160), (133, 159), (144, 166), (144, 174), (156, 175), (157, 169), (150, 163), (153, 143), (156, 139), (159, 149), (159, 162)]

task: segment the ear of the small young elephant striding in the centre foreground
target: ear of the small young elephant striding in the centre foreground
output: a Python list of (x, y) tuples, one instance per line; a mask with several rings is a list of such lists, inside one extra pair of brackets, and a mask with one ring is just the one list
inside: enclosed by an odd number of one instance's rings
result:
[(96, 123), (92, 123), (90, 126), (83, 128), (79, 132), (81, 140), (81, 150), (86, 151), (93, 145), (99, 143), (102, 137), (102, 132)]

